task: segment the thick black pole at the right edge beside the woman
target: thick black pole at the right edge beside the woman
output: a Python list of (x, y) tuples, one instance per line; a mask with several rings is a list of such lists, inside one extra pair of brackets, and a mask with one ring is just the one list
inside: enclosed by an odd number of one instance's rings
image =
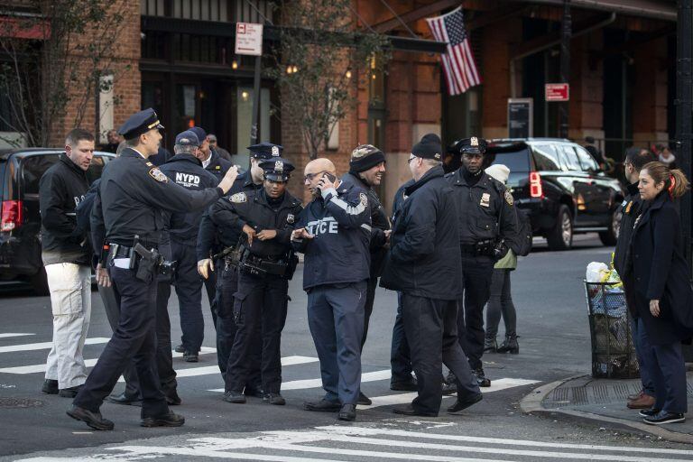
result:
[[(693, 138), (693, 0), (678, 1), (676, 40), (676, 139), (677, 159), (682, 171), (691, 180), (691, 141)], [(688, 267), (693, 268), (693, 200), (691, 193), (681, 199), (683, 245)]]

